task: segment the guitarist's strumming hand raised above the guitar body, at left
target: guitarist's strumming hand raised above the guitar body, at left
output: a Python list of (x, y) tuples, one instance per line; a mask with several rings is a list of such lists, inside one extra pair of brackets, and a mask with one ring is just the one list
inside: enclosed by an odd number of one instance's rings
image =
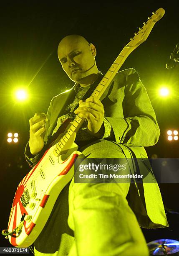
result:
[(35, 113), (33, 118), (30, 118), (30, 138), (29, 147), (30, 153), (37, 155), (44, 146), (43, 138), (45, 136), (45, 120), (47, 116), (44, 113)]

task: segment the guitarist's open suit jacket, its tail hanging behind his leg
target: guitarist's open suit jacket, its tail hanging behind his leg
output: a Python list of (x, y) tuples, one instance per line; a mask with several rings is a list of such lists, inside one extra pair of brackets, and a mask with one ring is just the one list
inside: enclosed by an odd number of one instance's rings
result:
[[(53, 133), (58, 117), (64, 114), (66, 105), (71, 103), (68, 101), (73, 93), (74, 87), (51, 100), (48, 122), (45, 125), (45, 143)], [(145, 173), (146, 169), (149, 173), (143, 184), (131, 185), (128, 196), (129, 205), (135, 212), (139, 224), (146, 228), (168, 226), (161, 193), (149, 163), (146, 164), (147, 154), (144, 149), (158, 141), (160, 130), (146, 89), (137, 72), (132, 68), (118, 72), (101, 101), (105, 118), (112, 127), (112, 140), (121, 147), (126, 158), (131, 159), (129, 164), (132, 172), (136, 173), (137, 166), (141, 166), (142, 161), (144, 168), (140, 169), (141, 174)], [(44, 150), (35, 157), (30, 156), (27, 144), (25, 155), (31, 166), (38, 162)], [(135, 158), (140, 159), (140, 163), (136, 164)], [(148, 218), (145, 218), (146, 216)]]

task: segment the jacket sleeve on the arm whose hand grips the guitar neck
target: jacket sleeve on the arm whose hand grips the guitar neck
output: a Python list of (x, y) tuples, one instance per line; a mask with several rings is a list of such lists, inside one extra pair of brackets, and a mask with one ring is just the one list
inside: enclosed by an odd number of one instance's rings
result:
[(112, 126), (115, 141), (131, 147), (153, 146), (159, 139), (159, 125), (146, 89), (134, 69), (128, 69), (125, 84), (121, 106), (124, 117), (105, 116)]

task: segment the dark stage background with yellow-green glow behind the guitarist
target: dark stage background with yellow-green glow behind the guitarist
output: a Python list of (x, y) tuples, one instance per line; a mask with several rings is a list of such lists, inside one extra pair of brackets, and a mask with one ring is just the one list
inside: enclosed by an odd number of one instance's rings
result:
[[(96, 63), (103, 74), (111, 66), (134, 32), (143, 26), (152, 11), (164, 8), (149, 38), (127, 58), (121, 69), (133, 67), (145, 85), (161, 129), (157, 145), (146, 148), (151, 157), (178, 158), (179, 142), (166, 139), (168, 129), (179, 130), (179, 64), (166, 69), (179, 42), (177, 1), (13, 1), (0, 3), (0, 157), (1, 210), (0, 227), (7, 228), (16, 187), (30, 170), (23, 151), (29, 136), (29, 119), (45, 112), (53, 96), (73, 86), (58, 62), (58, 43), (68, 34), (80, 34), (97, 49)], [(172, 89), (170, 97), (159, 97), (161, 85)], [(27, 87), (27, 102), (15, 102), (13, 90)], [(7, 133), (18, 132), (19, 143), (7, 143)], [(168, 228), (144, 230), (147, 241), (158, 238), (179, 239), (177, 213), (178, 184), (160, 184), (169, 218)], [(0, 246), (9, 246), (0, 238)]]

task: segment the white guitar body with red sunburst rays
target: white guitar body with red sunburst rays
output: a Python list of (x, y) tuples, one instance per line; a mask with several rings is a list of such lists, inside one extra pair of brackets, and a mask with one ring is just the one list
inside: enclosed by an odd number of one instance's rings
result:
[[(74, 161), (81, 152), (73, 143), (67, 154), (51, 156), (56, 145), (45, 151), (42, 159), (18, 185), (10, 212), (8, 232), (16, 227), (19, 235), (8, 236), (16, 247), (30, 246), (42, 231), (63, 187), (74, 175)], [(72, 153), (71, 153), (72, 152)]]

